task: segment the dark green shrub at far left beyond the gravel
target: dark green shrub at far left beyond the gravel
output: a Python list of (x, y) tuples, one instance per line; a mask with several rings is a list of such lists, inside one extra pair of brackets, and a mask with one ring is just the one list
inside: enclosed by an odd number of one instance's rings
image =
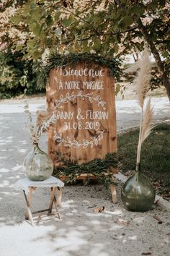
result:
[(23, 59), (19, 51), (8, 49), (0, 53), (0, 98), (11, 98), (20, 94), (43, 93), (37, 88), (37, 74), (32, 71), (33, 61)]

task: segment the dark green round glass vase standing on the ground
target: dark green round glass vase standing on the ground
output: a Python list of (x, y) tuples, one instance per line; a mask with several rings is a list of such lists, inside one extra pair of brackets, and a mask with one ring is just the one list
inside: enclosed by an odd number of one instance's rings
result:
[(146, 211), (153, 205), (155, 197), (153, 185), (140, 171), (135, 171), (122, 186), (121, 198), (128, 210)]

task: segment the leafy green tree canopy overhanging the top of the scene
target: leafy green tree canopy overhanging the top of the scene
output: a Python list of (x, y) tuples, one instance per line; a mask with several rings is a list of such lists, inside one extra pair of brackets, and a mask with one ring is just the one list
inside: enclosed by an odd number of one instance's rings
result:
[[(50, 51), (120, 57), (142, 51), (148, 45), (170, 98), (169, 1), (6, 2), (15, 2), (9, 26), (22, 33), (13, 33), (12, 47), (17, 51), (22, 49), (25, 58), (41, 59)], [(12, 4), (7, 4), (5, 9), (11, 7)], [(8, 31), (6, 40), (10, 41)]]

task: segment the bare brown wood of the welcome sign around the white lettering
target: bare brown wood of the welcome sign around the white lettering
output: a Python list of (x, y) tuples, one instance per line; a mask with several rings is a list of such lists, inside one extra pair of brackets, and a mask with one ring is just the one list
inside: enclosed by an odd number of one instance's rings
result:
[[(93, 69), (100, 70), (102, 69), (102, 77), (91, 77), (91, 76), (81, 76), (77, 77), (61, 75), (60, 69), (51, 69), (49, 75), (49, 86), (47, 88), (47, 106), (48, 110), (53, 109), (54, 102), (56, 99), (61, 97), (61, 94), (65, 97), (66, 93), (74, 92), (77, 95), (80, 91), (86, 95), (88, 93), (93, 93), (93, 98), (97, 96), (101, 96), (102, 101), (105, 101), (105, 110), (98, 106), (97, 101), (93, 101), (92, 103), (88, 99), (82, 100), (80, 97), (74, 99), (73, 101), (68, 101), (68, 103), (62, 103), (62, 108), (58, 109), (58, 111), (71, 112), (73, 113), (73, 119), (63, 120), (58, 119), (55, 124), (56, 131), (59, 134), (62, 134), (63, 139), (67, 140), (67, 137), (73, 140), (77, 140), (78, 142), (83, 142), (84, 140), (91, 141), (91, 137), (97, 137), (97, 127), (93, 127), (92, 129), (86, 129), (86, 123), (96, 123), (99, 122), (99, 130), (103, 131), (103, 139), (99, 141), (97, 145), (93, 145), (91, 148), (88, 145), (86, 148), (82, 146), (79, 148), (73, 148), (65, 146), (64, 143), (62, 145), (58, 145), (58, 143), (54, 140), (54, 127), (50, 127), (48, 131), (48, 153), (52, 158), (55, 165), (55, 151), (61, 153), (61, 155), (66, 159), (71, 159), (71, 161), (77, 161), (78, 163), (89, 162), (94, 158), (104, 158), (107, 153), (117, 152), (117, 129), (116, 129), (116, 113), (115, 113), (115, 80), (113, 77), (109, 76), (109, 70), (106, 67), (101, 67), (95, 63), (80, 63), (76, 64), (73, 67), (67, 67), (67, 69)], [(63, 90), (59, 90), (59, 82), (63, 84)], [(79, 81), (80, 89), (71, 89), (66, 90), (65, 84), (68, 81)], [(83, 86), (83, 82), (86, 81), (98, 81), (103, 82), (104, 90), (89, 90)], [(84, 116), (84, 119), (78, 120), (77, 115), (79, 114), (79, 109), (81, 109), (81, 115)], [(95, 111), (105, 111), (108, 114), (108, 119), (91, 119), (89, 114), (87, 115), (87, 111), (91, 111), (94, 113)], [(89, 112), (88, 112), (89, 113)], [(82, 129), (73, 129), (73, 123), (78, 123), (81, 121)], [(71, 125), (71, 129), (66, 129), (65, 122), (69, 122)]]

